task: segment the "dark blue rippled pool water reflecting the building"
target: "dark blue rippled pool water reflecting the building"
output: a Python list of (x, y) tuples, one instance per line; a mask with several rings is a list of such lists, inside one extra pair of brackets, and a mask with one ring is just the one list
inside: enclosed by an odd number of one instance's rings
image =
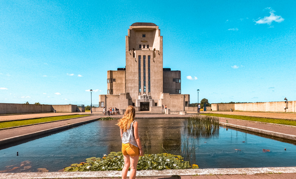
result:
[[(193, 135), (185, 129), (182, 119), (137, 121), (146, 153), (181, 154), (182, 141), (188, 140), (189, 147), (195, 148), (195, 161), (200, 168), (296, 166), (296, 145), (288, 140), (223, 126), (215, 129), (215, 134)], [(15, 146), (1, 146), (0, 172), (55, 172), (89, 157), (121, 151), (116, 122), (94, 121)]]

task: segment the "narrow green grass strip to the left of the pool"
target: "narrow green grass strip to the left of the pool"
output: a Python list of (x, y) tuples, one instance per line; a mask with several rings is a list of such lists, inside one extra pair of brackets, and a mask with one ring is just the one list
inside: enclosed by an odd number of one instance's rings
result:
[(49, 122), (49, 121), (57, 121), (57, 120), (62, 120), (62, 119), (78, 118), (78, 117), (84, 117), (84, 116), (89, 116), (89, 115), (87, 115), (87, 114), (63, 115), (63, 116), (54, 116), (54, 117), (46, 117), (46, 118), (39, 118), (39, 119), (28, 119), (28, 120), (22, 120), (22, 121), (2, 122), (2, 123), (0, 123), (0, 129), (7, 128), (7, 127), (23, 126), (23, 125), (28, 125), (28, 124)]

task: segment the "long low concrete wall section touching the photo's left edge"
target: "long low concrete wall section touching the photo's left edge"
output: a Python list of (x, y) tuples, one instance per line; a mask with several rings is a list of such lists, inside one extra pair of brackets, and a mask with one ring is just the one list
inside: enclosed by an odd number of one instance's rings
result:
[(0, 103), (0, 114), (49, 113), (52, 105)]

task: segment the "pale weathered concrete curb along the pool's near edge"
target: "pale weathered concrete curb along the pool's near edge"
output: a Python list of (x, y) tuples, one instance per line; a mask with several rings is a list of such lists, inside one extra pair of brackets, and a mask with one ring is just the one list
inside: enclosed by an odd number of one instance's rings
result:
[[(296, 167), (264, 167), (264, 168), (213, 168), (184, 170), (140, 170), (137, 177), (173, 176), (173, 175), (254, 175), (264, 173), (295, 173)], [(129, 171), (128, 171), (129, 176)], [(41, 178), (102, 178), (121, 177), (121, 171), (96, 172), (45, 172), (45, 173), (0, 173), (0, 179), (41, 179)]]

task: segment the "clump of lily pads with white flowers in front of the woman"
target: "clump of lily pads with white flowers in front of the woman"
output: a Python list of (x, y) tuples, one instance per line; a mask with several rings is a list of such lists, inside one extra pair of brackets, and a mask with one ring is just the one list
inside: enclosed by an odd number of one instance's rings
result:
[[(181, 155), (170, 153), (145, 154), (139, 157), (137, 170), (164, 170), (164, 169), (188, 169), (198, 168), (198, 165), (190, 165), (189, 161), (184, 161)], [(100, 157), (91, 157), (86, 162), (72, 164), (66, 167), (64, 172), (75, 171), (121, 171), (124, 166), (122, 152), (111, 152), (108, 155)]]

